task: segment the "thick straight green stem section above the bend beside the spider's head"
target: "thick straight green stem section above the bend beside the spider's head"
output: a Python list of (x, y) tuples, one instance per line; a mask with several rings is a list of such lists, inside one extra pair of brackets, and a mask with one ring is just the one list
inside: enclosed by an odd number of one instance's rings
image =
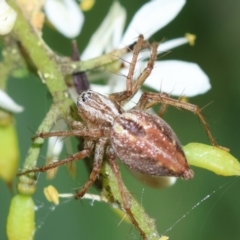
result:
[[(67, 86), (64, 76), (54, 60), (52, 51), (47, 47), (37, 30), (27, 21), (21, 9), (17, 6), (16, 1), (9, 0), (8, 3), (17, 12), (17, 20), (12, 34), (27, 51), (28, 56), (38, 69), (38, 73), (44, 79), (44, 83), (46, 83), (52, 94), (54, 102), (65, 100), (67, 97)], [(57, 96), (56, 92), (58, 93)]]

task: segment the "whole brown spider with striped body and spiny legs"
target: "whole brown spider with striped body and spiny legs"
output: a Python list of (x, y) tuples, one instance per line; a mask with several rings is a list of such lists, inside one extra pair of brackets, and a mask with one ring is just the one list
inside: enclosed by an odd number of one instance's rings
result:
[(140, 35), (134, 46), (125, 91), (109, 96), (92, 90), (84, 91), (77, 99), (78, 113), (82, 122), (72, 122), (72, 130), (68, 132), (39, 133), (36, 135), (41, 138), (52, 136), (83, 137), (83, 150), (61, 161), (23, 171), (19, 175), (30, 172), (45, 172), (60, 165), (83, 159), (94, 151), (93, 169), (85, 185), (76, 192), (75, 198), (78, 199), (84, 196), (97, 179), (103, 158), (106, 156), (118, 181), (123, 199), (123, 209), (144, 237), (144, 232), (138, 227), (131, 213), (116, 159), (119, 158), (130, 169), (148, 175), (176, 176), (183, 179), (191, 179), (194, 175), (188, 166), (180, 141), (171, 127), (159, 116), (147, 113), (145, 110), (157, 103), (162, 103), (163, 106), (168, 104), (192, 111), (198, 115), (203, 123), (213, 145), (218, 145), (197, 106), (172, 99), (165, 93), (145, 92), (135, 107), (128, 111), (123, 110), (123, 105), (135, 95), (150, 75), (156, 60), (158, 44), (153, 43), (147, 67), (135, 81), (133, 80), (137, 57), (143, 43), (143, 36)]

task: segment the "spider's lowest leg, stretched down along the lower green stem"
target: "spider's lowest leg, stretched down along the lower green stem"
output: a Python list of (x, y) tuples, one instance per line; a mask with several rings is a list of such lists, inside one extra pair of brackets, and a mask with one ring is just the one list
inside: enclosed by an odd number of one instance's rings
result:
[(109, 155), (108, 159), (109, 159), (109, 163), (110, 163), (110, 166), (112, 168), (112, 171), (113, 171), (113, 173), (114, 173), (114, 175), (117, 179), (117, 182), (118, 182), (119, 191), (120, 191), (121, 196), (122, 196), (123, 209), (126, 211), (128, 217), (131, 219), (133, 225), (138, 229), (138, 231), (142, 235), (143, 239), (146, 239), (146, 234), (144, 233), (144, 231), (139, 226), (137, 220), (135, 219), (135, 217), (134, 217), (134, 215), (131, 211), (129, 197), (128, 197), (128, 195), (125, 191), (125, 187), (123, 185), (121, 173), (120, 173), (117, 161), (116, 161), (116, 156), (115, 155)]

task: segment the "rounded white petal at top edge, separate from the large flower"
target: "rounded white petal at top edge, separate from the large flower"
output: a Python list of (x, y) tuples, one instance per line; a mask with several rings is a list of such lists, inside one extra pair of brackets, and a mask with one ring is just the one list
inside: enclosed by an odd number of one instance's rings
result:
[(74, 0), (46, 0), (44, 10), (49, 21), (65, 37), (79, 35), (84, 15)]

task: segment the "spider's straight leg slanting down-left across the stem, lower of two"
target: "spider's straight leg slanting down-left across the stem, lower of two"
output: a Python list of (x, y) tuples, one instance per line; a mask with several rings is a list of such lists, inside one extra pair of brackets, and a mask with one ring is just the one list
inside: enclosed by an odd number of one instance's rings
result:
[(57, 162), (53, 162), (51, 164), (48, 164), (46, 166), (43, 167), (39, 167), (39, 168), (34, 168), (34, 169), (29, 169), (24, 171), (21, 173), (18, 173), (17, 176), (21, 176), (21, 175), (25, 175), (27, 173), (32, 173), (32, 172), (46, 172), (47, 170), (65, 165), (67, 163), (71, 163), (77, 160), (82, 160), (83, 158), (87, 157), (89, 154), (91, 153), (91, 149), (83, 149), (82, 151), (73, 154), (72, 156), (65, 158), (61, 161), (57, 161)]

